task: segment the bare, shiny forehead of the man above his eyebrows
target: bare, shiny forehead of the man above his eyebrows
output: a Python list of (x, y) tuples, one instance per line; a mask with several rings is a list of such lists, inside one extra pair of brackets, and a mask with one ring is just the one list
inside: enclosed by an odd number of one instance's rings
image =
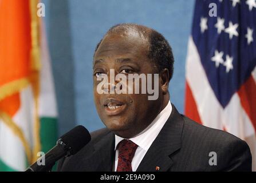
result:
[(111, 34), (104, 37), (98, 47), (94, 60), (102, 57), (145, 57), (148, 55), (148, 39), (135, 33)]

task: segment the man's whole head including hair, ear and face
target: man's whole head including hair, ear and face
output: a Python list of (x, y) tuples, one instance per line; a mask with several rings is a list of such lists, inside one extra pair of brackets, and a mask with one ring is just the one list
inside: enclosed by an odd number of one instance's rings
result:
[[(142, 132), (169, 101), (168, 83), (174, 58), (166, 39), (157, 31), (135, 24), (113, 26), (97, 45), (93, 57), (94, 102), (109, 130), (124, 138)], [(159, 74), (159, 97), (146, 94), (99, 94), (99, 75)], [(109, 87), (109, 89), (111, 86)]]

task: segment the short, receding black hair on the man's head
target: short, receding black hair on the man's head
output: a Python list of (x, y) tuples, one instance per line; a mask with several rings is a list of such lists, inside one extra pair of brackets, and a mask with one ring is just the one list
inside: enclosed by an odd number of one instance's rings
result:
[[(137, 31), (139, 31), (145, 37), (148, 37), (148, 42), (149, 42), (148, 58), (151, 59), (153, 62), (155, 62), (159, 72), (162, 71), (163, 69), (168, 69), (169, 77), (170, 77), (169, 81), (170, 81), (174, 73), (174, 55), (172, 54), (171, 46), (169, 45), (168, 41), (166, 40), (166, 38), (164, 38), (162, 34), (158, 33), (156, 30), (153, 30), (145, 26), (137, 25), (135, 23), (121, 23), (111, 27), (111, 29), (107, 31), (104, 37), (109, 33), (116, 31), (117, 29), (121, 29), (125, 31), (127, 27), (132, 27), (133, 29), (137, 29)], [(141, 30), (141, 27), (143, 29), (151, 30), (150, 33), (147, 35), (145, 31)], [(101, 39), (100, 42), (97, 43), (96, 49), (94, 50), (94, 55), (97, 49), (99, 48), (102, 40), (103, 39)]]

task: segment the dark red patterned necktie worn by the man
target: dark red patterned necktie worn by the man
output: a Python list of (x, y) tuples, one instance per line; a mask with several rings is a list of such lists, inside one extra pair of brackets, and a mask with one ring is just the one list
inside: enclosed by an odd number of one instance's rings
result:
[(132, 172), (132, 158), (137, 147), (137, 144), (132, 141), (122, 140), (119, 142), (116, 172)]

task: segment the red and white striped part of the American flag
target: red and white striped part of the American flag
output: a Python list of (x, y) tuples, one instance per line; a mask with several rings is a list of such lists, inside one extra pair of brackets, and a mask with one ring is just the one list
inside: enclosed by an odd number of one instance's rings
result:
[(220, 105), (208, 82), (192, 37), (188, 41), (186, 63), (185, 114), (202, 125), (225, 130), (245, 140), (256, 171), (256, 68), (231, 98), (226, 108)]

